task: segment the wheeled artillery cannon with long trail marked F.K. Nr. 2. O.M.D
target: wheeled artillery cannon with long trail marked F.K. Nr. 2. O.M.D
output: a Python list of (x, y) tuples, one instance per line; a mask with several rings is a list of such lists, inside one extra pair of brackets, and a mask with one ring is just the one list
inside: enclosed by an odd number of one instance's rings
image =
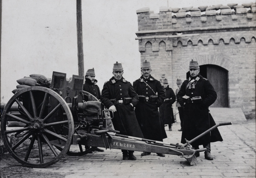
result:
[[(195, 153), (205, 149), (195, 150), (190, 143), (217, 126), (231, 124), (217, 124), (186, 144), (120, 135), (119, 131), (91, 125), (92, 121), (112, 119), (113, 112), (102, 109), (97, 98), (82, 90), (83, 79), (83, 76), (73, 75), (69, 83), (66, 74), (53, 72), (50, 88), (24, 88), (1, 106), (1, 136), (13, 158), (28, 167), (44, 168), (55, 164), (65, 154), (81, 156), (103, 147), (178, 155), (194, 165)], [(23, 125), (9, 127), (12, 122)], [(20, 149), (25, 142), (29, 142), (27, 149)], [(85, 150), (83, 145), (90, 149)], [(79, 146), (79, 151), (73, 146)]]

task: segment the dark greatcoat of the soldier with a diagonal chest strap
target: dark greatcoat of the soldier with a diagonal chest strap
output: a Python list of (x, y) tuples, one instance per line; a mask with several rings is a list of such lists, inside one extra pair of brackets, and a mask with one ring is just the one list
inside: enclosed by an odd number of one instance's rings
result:
[(135, 92), (137, 92), (138, 95), (144, 95), (146, 97), (155, 95), (149, 86), (158, 95), (157, 101), (139, 101), (135, 107), (136, 117), (146, 139), (163, 141), (163, 138), (167, 138), (167, 135), (159, 116), (158, 107), (163, 103), (166, 94), (160, 81), (155, 80), (150, 75), (147, 79), (141, 76), (133, 83)]

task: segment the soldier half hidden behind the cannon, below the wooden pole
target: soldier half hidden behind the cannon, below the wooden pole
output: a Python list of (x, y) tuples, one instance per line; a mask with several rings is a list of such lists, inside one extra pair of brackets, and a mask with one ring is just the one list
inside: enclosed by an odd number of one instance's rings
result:
[[(95, 79), (95, 72), (94, 72), (94, 68), (93, 69), (88, 69), (87, 72), (85, 73), (85, 83), (83, 85), (83, 90), (86, 92), (89, 92), (90, 94), (92, 94), (93, 96), (95, 96), (98, 100), (100, 99), (100, 90), (99, 90), (99, 86), (96, 85), (98, 81)], [(84, 97), (86, 97), (86, 95), (84, 95)], [(86, 100), (86, 98), (85, 98)], [(88, 98), (87, 98), (88, 100)], [(99, 126), (99, 121), (93, 121), (93, 123), (91, 123), (93, 126)], [(85, 149), (89, 149), (90, 146), (86, 146)], [(103, 149), (100, 148), (96, 148), (94, 151), (97, 152), (104, 152)]]

